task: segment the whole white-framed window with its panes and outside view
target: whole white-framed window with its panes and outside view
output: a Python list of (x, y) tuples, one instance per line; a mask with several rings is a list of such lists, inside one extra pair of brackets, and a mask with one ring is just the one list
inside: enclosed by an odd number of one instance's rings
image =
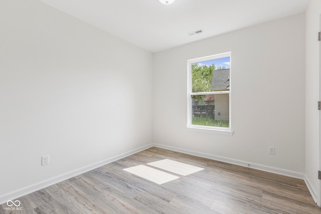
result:
[(231, 53), (188, 61), (188, 127), (231, 132)]

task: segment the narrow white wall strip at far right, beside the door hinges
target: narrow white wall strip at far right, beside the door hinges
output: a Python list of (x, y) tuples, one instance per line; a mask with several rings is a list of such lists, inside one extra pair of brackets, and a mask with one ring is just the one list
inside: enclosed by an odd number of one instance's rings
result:
[[(317, 171), (320, 165), (319, 121), (317, 101), (320, 100), (319, 63), (320, 42), (317, 32), (320, 30), (321, 2), (312, 0), (306, 10), (306, 75), (305, 75), (305, 174), (310, 192), (319, 203), (319, 180)], [(321, 204), (318, 204), (321, 205)]]

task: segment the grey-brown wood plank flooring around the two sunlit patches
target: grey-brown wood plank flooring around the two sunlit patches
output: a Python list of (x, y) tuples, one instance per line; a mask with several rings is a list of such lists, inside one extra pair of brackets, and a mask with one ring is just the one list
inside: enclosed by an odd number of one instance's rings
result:
[[(122, 170), (163, 159), (204, 170), (164, 184)], [(0, 214), (321, 213), (303, 180), (156, 147), (17, 199), (23, 210)]]

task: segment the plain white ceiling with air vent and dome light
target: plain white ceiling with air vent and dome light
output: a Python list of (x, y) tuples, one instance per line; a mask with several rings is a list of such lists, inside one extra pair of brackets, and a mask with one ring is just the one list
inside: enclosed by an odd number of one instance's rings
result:
[[(60, 11), (158, 52), (303, 13), (309, 0), (40, 0)], [(188, 36), (195, 30), (204, 33)]]

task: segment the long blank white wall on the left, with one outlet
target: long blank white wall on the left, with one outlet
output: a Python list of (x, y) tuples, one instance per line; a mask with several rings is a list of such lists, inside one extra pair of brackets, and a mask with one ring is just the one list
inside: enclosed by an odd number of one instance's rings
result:
[(151, 143), (151, 53), (35, 0), (0, 26), (0, 202)]

